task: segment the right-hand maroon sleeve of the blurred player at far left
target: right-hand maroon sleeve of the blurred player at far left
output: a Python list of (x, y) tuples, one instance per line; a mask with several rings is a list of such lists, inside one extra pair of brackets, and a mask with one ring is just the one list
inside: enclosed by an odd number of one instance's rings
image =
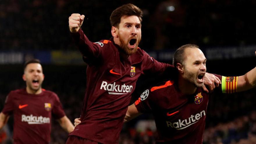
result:
[(65, 112), (62, 108), (59, 97), (54, 93), (54, 106), (52, 109), (52, 115), (55, 119), (60, 119), (65, 116)]

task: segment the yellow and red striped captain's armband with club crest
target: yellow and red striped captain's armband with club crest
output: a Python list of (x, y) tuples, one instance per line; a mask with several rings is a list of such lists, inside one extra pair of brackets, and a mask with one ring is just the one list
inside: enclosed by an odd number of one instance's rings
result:
[(224, 77), (221, 79), (222, 93), (235, 93), (237, 92), (238, 77)]

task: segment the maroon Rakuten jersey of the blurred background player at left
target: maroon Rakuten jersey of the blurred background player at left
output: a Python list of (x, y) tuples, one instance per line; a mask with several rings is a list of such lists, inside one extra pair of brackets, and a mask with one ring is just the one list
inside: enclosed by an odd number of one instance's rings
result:
[(14, 115), (13, 140), (17, 144), (49, 144), (51, 115), (56, 119), (65, 116), (55, 93), (42, 90), (34, 95), (27, 93), (25, 88), (9, 93), (2, 112)]

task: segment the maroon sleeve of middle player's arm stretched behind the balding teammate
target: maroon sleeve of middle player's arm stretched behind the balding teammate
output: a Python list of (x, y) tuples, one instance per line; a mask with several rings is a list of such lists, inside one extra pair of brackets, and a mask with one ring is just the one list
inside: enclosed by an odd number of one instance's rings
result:
[(167, 63), (161, 63), (157, 60), (155, 60), (153, 57), (151, 57), (149, 54), (147, 54), (145, 51), (143, 51), (144, 54), (144, 60), (142, 63), (142, 70), (143, 73), (157, 73), (157, 75), (161, 75), (165, 72), (165, 70), (168, 69), (171, 75), (175, 72), (175, 69), (173, 65), (167, 64)]

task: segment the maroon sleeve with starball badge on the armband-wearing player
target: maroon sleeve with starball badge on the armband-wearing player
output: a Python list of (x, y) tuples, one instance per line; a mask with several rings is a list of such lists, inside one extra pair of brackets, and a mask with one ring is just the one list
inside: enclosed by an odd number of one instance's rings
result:
[(152, 108), (150, 106), (152, 94), (150, 93), (150, 90), (145, 90), (141, 96), (138, 98), (138, 100), (135, 101), (135, 106), (137, 110), (141, 113), (150, 112), (152, 111)]

